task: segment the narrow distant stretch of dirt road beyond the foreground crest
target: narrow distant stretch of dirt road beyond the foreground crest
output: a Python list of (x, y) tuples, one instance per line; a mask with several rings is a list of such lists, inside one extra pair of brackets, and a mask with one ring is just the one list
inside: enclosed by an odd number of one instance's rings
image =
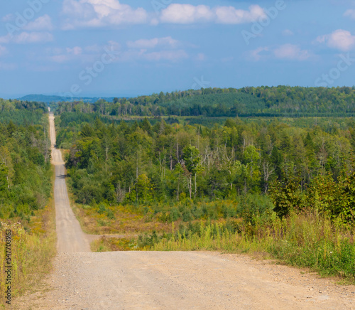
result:
[(52, 148), (52, 161), (55, 165), (55, 223), (57, 226), (58, 252), (90, 252), (89, 241), (85, 237), (80, 224), (70, 208), (65, 183), (65, 167), (62, 154), (55, 148), (54, 114), (49, 114), (50, 142)]

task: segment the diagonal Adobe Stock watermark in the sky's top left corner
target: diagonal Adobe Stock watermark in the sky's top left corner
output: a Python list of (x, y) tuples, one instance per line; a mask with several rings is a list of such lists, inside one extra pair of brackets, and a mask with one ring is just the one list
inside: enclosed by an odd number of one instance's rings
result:
[(28, 8), (24, 9), (22, 14), (15, 13), (15, 23), (6, 23), (5, 28), (9, 33), (9, 36), (13, 38), (13, 33), (21, 31), (21, 29), (27, 26), (28, 22), (35, 17), (42, 8), (43, 4), (48, 4), (50, 0), (28, 0)]

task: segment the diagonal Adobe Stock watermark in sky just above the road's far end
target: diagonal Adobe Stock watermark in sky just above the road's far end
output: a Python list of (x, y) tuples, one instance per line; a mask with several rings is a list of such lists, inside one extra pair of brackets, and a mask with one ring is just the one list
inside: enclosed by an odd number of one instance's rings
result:
[[(104, 48), (104, 53), (101, 55), (100, 60), (97, 60), (92, 64), (91, 67), (85, 68), (85, 70), (80, 71), (78, 78), (82, 81), (82, 84), (88, 86), (92, 81), (102, 73), (107, 65), (116, 60), (120, 52), (114, 50), (114, 46), (109, 46)], [(82, 93), (82, 85), (78, 82), (72, 84), (69, 92), (60, 92), (60, 97), (70, 97), (72, 100), (74, 97), (78, 97)]]

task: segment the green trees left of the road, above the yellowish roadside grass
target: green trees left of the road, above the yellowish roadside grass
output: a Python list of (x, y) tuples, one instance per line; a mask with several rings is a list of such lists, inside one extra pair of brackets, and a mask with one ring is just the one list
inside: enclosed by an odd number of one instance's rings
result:
[[(41, 117), (43, 122), (46, 116)], [(0, 218), (29, 221), (35, 210), (48, 203), (51, 174), (48, 122), (0, 123)]]

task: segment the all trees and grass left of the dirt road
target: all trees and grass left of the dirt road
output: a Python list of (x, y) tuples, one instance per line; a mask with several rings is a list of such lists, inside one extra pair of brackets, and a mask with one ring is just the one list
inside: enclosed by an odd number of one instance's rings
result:
[[(55, 255), (47, 112), (43, 103), (0, 99), (0, 251), (11, 230), (13, 296), (37, 284)], [(0, 270), (5, 292), (4, 264)]]

